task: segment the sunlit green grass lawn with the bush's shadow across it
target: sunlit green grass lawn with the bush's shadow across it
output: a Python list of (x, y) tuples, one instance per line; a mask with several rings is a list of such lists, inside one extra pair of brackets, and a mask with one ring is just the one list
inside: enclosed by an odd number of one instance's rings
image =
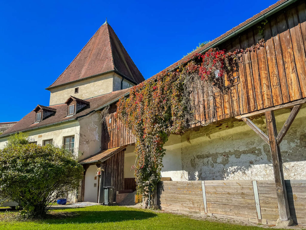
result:
[[(14, 218), (6, 219), (8, 216), (17, 214), (16, 211), (2, 212), (0, 213), (0, 229), (263, 229), (260, 227), (194, 220), (182, 215), (122, 206), (98, 205), (75, 209), (58, 209), (52, 212), (54, 215), (61, 214), (61, 217), (46, 220), (17, 221)], [(62, 217), (65, 213), (73, 216)]]

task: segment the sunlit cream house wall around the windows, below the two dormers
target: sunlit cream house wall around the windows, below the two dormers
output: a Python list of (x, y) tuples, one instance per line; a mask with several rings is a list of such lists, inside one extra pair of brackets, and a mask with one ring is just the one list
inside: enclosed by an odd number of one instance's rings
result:
[[(65, 136), (74, 135), (74, 152), (77, 154), (79, 147), (80, 125), (78, 121), (69, 121), (58, 125), (52, 125), (44, 128), (38, 128), (24, 132), (29, 136), (30, 141), (37, 141), (37, 144), (43, 145), (44, 140), (53, 139), (53, 144), (62, 146)], [(4, 148), (9, 137), (0, 139), (0, 148)]]

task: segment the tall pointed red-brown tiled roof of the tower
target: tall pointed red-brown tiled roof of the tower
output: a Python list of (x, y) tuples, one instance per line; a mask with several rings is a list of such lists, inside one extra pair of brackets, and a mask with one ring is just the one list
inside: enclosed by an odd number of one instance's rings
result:
[(135, 84), (144, 81), (113, 28), (106, 21), (47, 89), (109, 71), (115, 71)]

